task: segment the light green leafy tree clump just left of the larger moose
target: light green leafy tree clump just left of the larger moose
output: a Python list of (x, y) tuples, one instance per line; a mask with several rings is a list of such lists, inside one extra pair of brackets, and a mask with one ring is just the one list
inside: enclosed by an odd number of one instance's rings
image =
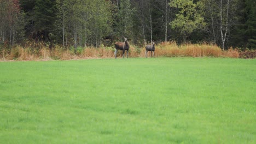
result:
[(112, 31), (108, 1), (63, 1), (57, 4), (61, 13), (59, 21), (61, 27), (65, 28), (65, 37), (73, 37), (79, 46), (99, 46), (101, 39)]

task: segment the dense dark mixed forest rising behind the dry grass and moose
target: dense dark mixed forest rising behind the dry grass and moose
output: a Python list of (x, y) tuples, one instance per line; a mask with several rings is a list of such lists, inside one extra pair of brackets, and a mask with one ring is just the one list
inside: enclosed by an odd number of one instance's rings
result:
[(255, 0), (0, 0), (0, 45), (111, 45), (126, 37), (256, 49)]

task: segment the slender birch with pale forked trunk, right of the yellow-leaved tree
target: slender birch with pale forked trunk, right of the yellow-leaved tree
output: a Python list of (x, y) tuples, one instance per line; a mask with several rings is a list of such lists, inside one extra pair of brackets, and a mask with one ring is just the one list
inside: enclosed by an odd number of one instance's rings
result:
[(208, 23), (205, 27), (211, 41), (222, 47), (228, 47), (230, 35), (238, 21), (241, 19), (241, 7), (243, 3), (239, 0), (205, 0), (205, 20)]

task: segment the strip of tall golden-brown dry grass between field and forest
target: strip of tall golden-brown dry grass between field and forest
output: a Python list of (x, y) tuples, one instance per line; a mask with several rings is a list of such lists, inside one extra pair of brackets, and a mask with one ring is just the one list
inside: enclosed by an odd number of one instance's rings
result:
[[(34, 48), (34, 46), (37, 46)], [(149, 52), (150, 53), (150, 52)], [(118, 58), (123, 52), (118, 51)], [(126, 53), (125, 53), (126, 56)], [(129, 57), (145, 57), (145, 47), (130, 45)], [(222, 51), (214, 44), (182, 44), (176, 42), (160, 43), (155, 45), (155, 57), (240, 57), (236, 49)], [(11, 49), (0, 49), (0, 60), (9, 61), (48, 61), (50, 59), (87, 59), (87, 58), (114, 58), (113, 47), (77, 47), (63, 48), (59, 45), (51, 47), (44, 44), (16, 45)]]

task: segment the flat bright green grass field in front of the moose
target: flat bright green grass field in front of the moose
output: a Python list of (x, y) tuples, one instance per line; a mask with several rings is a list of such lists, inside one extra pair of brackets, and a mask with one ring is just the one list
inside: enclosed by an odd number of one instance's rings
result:
[(0, 143), (255, 143), (256, 59), (0, 62)]

